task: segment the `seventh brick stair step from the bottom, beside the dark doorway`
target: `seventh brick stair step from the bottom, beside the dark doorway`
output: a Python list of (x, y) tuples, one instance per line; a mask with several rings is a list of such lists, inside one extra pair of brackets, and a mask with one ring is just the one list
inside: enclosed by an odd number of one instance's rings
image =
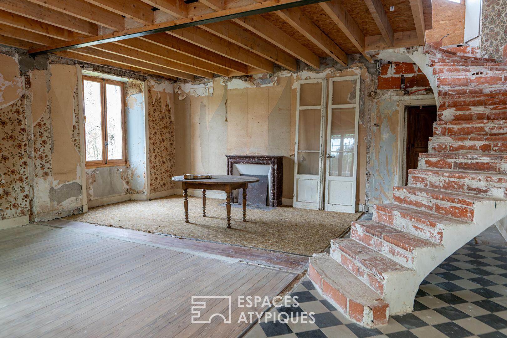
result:
[(419, 168), (507, 174), (507, 155), (421, 153)]

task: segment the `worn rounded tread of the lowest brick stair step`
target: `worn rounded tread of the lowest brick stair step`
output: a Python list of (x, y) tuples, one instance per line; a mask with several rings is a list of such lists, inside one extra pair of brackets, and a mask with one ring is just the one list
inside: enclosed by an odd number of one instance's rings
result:
[(324, 281), (352, 301), (368, 306), (385, 303), (382, 296), (354, 276), (327, 253), (314, 253), (310, 265)]

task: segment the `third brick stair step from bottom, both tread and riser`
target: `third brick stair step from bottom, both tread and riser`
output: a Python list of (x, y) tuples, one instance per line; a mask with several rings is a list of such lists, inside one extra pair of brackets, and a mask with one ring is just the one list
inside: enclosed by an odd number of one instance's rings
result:
[(436, 243), (375, 220), (352, 222), (350, 238), (409, 269), (414, 267), (415, 251), (418, 248), (437, 246)]

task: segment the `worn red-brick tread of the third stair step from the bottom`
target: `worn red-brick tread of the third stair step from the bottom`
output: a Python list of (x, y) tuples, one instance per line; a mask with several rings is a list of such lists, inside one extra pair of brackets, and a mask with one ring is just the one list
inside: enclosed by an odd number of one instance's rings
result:
[(382, 239), (385, 242), (400, 247), (408, 252), (413, 252), (417, 248), (439, 246), (439, 244), (414, 236), (403, 230), (387, 226), (386, 224), (376, 220), (355, 221), (352, 223), (356, 224), (357, 227), (360, 227), (363, 232)]

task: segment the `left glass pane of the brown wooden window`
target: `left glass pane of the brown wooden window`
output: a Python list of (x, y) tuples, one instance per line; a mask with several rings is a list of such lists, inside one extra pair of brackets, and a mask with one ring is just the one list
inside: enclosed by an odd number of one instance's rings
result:
[(100, 83), (83, 81), (85, 92), (85, 141), (86, 160), (102, 160), (102, 123), (100, 103)]

